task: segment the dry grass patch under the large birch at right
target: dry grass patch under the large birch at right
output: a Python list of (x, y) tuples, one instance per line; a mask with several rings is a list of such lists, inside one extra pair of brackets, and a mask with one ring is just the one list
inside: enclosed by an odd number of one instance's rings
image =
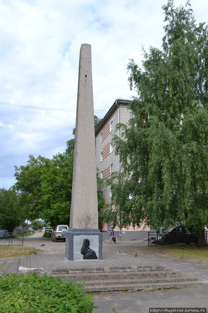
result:
[(171, 255), (179, 259), (189, 259), (206, 262), (208, 266), (208, 247), (197, 248), (196, 244), (171, 244), (171, 245), (149, 245), (141, 247), (140, 252), (153, 252)]

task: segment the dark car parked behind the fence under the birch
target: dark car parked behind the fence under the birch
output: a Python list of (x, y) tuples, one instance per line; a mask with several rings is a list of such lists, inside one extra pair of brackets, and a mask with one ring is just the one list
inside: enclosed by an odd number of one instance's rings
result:
[(184, 226), (171, 227), (166, 233), (156, 233), (151, 237), (151, 244), (196, 244), (198, 235)]

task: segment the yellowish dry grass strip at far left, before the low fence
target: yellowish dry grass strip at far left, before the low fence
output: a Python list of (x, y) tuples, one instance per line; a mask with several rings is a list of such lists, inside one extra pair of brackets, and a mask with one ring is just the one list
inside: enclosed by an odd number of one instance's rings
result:
[(21, 255), (33, 254), (33, 251), (36, 250), (37, 253), (41, 254), (41, 249), (35, 249), (31, 247), (23, 247), (23, 246), (0, 246), (0, 258), (2, 259), (10, 259), (10, 258), (18, 258)]

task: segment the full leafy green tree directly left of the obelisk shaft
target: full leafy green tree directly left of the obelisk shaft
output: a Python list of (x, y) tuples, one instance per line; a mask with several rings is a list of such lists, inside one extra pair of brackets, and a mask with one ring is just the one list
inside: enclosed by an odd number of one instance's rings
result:
[(58, 153), (52, 160), (30, 155), (26, 166), (15, 167), (15, 189), (26, 219), (42, 218), (54, 226), (69, 223), (73, 153)]

